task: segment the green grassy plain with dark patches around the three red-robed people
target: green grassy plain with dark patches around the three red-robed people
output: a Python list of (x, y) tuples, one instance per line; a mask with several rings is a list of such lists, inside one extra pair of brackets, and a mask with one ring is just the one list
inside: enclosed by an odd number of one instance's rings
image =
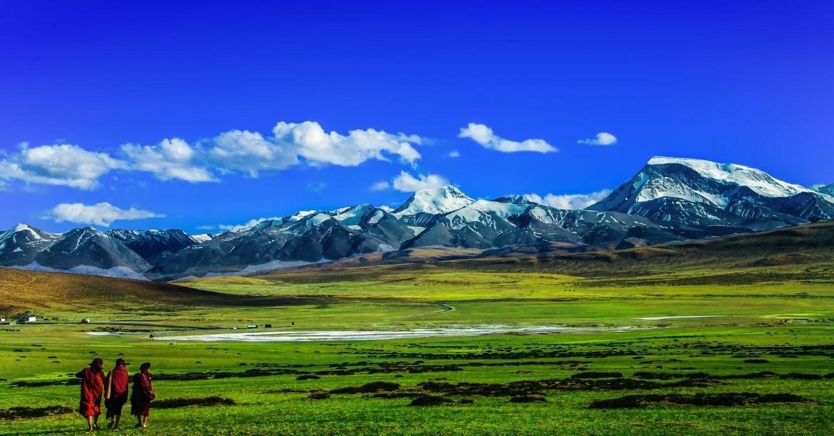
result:
[[(134, 430), (126, 417), (122, 433), (828, 434), (834, 262), (827, 246), (831, 239), (805, 256), (764, 263), (757, 259), (770, 254), (746, 250), (717, 261), (713, 249), (701, 260), (690, 253), (686, 263), (640, 251), (638, 261), (615, 259), (605, 268), (580, 259), (585, 270), (571, 266), (575, 258), (540, 259), (536, 268), (520, 262), (515, 272), (480, 261), (311, 269), (179, 283), (192, 287), (187, 292), (104, 280), (88, 282), (85, 294), (83, 283), (68, 284), (75, 276), (3, 276), (7, 310), (31, 308), (47, 319), (0, 326), (0, 434), (83, 430), (76, 413), (7, 413), (76, 408), (71, 374), (94, 357), (109, 368), (120, 353), (133, 363), (128, 370), (153, 362), (159, 397), (149, 428)], [(39, 293), (78, 291), (20, 303), (38, 299), (23, 294), (27, 283), (40, 283)], [(87, 317), (92, 324), (78, 323)], [(249, 333), (244, 327), (253, 322), (273, 325), (259, 333), (640, 329), (302, 343), (148, 337)], [(164, 333), (171, 331), (178, 333)], [(212, 396), (235, 405), (173, 400)], [(422, 397), (429, 398), (415, 399)]]

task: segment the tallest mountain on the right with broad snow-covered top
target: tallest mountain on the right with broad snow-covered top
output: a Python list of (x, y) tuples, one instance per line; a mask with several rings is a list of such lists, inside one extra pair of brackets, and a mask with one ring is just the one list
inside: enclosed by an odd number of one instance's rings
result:
[(699, 159), (651, 158), (631, 181), (590, 209), (669, 223), (763, 230), (831, 219), (827, 207), (831, 200), (834, 198), (782, 182), (756, 168)]

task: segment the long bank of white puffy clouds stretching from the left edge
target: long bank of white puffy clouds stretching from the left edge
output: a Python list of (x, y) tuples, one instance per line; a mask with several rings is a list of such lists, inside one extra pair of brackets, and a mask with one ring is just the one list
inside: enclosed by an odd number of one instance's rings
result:
[(302, 164), (355, 167), (375, 159), (414, 166), (421, 158), (414, 146), (421, 143), (423, 138), (417, 135), (373, 128), (325, 132), (311, 121), (277, 123), (272, 136), (230, 130), (194, 143), (182, 138), (152, 145), (125, 143), (119, 147), (119, 158), (71, 144), (29, 148), (23, 143), (17, 153), (0, 153), (0, 188), (9, 180), (21, 180), (93, 189), (98, 188), (99, 178), (115, 169), (151, 173), (160, 180), (204, 183), (219, 182), (219, 176), (229, 173), (254, 178), (261, 171)]

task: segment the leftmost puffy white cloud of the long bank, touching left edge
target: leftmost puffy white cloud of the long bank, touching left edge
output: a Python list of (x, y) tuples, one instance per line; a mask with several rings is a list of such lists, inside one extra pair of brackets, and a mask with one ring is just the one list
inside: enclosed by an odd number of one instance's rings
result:
[(0, 160), (0, 178), (26, 183), (63, 185), (78, 189), (98, 188), (98, 178), (127, 164), (107, 153), (94, 153), (77, 145), (56, 144), (29, 148)]

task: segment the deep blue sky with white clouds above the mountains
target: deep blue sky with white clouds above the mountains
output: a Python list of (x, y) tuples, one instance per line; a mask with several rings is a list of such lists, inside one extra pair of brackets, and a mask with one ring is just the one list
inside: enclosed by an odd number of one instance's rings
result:
[(4, 5), (0, 228), (595, 193), (654, 155), (834, 183), (830, 2), (447, 3)]

